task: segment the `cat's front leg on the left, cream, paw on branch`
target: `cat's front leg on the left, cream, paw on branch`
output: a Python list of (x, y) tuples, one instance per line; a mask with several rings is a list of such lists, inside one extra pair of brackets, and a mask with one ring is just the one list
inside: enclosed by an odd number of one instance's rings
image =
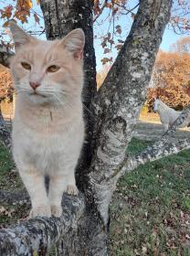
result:
[(35, 168), (30, 168), (30, 171), (19, 170), (19, 173), (32, 202), (32, 209), (30, 211), (29, 217), (50, 217), (51, 210), (48, 204), (47, 191), (43, 174), (38, 172)]

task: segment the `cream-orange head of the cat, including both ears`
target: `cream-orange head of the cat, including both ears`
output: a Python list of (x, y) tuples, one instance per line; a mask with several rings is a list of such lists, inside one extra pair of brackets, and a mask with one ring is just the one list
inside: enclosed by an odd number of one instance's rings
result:
[(35, 104), (66, 104), (80, 97), (83, 84), (84, 33), (75, 29), (67, 37), (42, 41), (10, 24), (16, 43), (11, 61), (15, 88), (22, 99)]

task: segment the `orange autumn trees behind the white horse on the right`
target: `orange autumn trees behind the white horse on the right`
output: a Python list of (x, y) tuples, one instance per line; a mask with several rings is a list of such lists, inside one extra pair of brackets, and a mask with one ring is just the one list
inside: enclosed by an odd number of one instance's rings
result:
[(147, 94), (149, 109), (153, 97), (159, 97), (176, 110), (190, 104), (186, 89), (190, 86), (190, 53), (160, 51), (155, 61), (151, 86)]

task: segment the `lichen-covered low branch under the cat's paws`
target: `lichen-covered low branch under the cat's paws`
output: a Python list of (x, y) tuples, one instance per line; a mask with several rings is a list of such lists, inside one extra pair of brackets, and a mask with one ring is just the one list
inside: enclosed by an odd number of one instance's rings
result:
[(59, 218), (29, 219), (0, 230), (1, 256), (47, 255), (48, 248), (58, 239), (76, 229), (84, 210), (84, 199), (64, 195), (63, 215)]

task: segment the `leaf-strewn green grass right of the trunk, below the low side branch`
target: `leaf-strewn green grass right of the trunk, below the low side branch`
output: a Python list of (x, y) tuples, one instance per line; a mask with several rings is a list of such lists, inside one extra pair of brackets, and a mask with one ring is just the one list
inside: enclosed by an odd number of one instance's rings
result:
[[(133, 155), (148, 144), (133, 139)], [(128, 152), (129, 153), (129, 152)], [(111, 256), (190, 256), (190, 151), (123, 176), (111, 204)]]

